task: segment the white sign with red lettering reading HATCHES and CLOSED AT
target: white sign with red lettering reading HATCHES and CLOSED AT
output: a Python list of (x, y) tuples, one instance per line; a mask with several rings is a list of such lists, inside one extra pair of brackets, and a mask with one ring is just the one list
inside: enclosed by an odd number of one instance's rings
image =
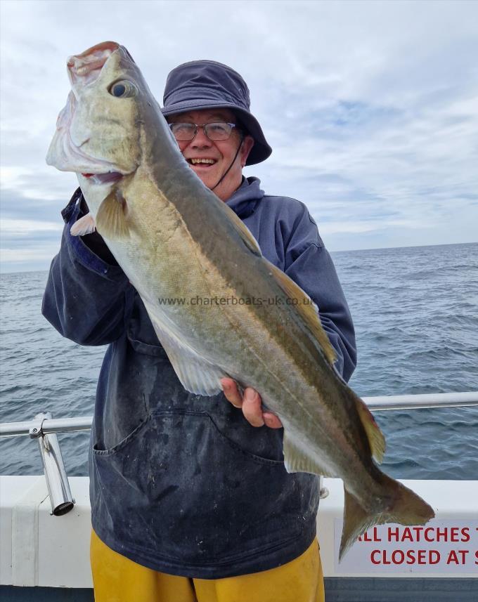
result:
[(339, 563), (342, 520), (336, 519), (335, 572), (478, 574), (478, 521), (439, 521), (422, 527), (379, 525), (366, 531)]

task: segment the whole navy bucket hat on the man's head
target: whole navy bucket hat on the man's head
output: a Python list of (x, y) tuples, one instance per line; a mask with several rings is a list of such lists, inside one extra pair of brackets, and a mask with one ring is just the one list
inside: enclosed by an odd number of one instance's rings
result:
[(247, 84), (227, 65), (214, 60), (193, 60), (179, 65), (167, 77), (163, 103), (164, 117), (202, 109), (230, 109), (254, 138), (246, 165), (260, 163), (271, 155), (261, 126), (250, 112)]

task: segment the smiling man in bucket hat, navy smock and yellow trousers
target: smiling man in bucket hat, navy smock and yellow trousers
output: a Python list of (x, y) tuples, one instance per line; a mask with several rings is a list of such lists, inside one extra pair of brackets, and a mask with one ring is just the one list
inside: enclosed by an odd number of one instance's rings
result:
[[(213, 61), (179, 65), (162, 111), (190, 168), (317, 303), (348, 380), (354, 329), (314, 220), (302, 203), (264, 195), (257, 178), (242, 176), (271, 154), (245, 81)], [(280, 419), (257, 391), (242, 395), (222, 379), (231, 404), (184, 391), (101, 236), (70, 235), (86, 211), (77, 190), (63, 210), (44, 315), (78, 343), (109, 345), (89, 466), (96, 602), (322, 601), (318, 478), (285, 471)]]

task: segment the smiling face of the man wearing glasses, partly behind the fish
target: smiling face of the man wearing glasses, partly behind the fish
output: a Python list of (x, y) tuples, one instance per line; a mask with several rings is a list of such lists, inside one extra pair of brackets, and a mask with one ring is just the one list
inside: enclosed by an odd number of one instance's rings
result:
[[(214, 122), (227, 122), (235, 124), (236, 119), (232, 111), (227, 109), (200, 110), (180, 113), (168, 117), (169, 123), (191, 123), (191, 124), (209, 124)], [(233, 162), (235, 153), (241, 144), (240, 132), (233, 128), (230, 138), (227, 140), (209, 140), (202, 128), (198, 128), (195, 138), (188, 142), (178, 142), (179, 148), (184, 158), (193, 169), (196, 175), (200, 177), (202, 183), (207, 188), (213, 189), (219, 180), (224, 176), (228, 167)], [(243, 166), (245, 165), (247, 155), (254, 145), (251, 136), (246, 136), (243, 140), (238, 156), (235, 157), (233, 166), (229, 169), (224, 180), (214, 188), (213, 192), (221, 200), (226, 201), (233, 192), (239, 188), (242, 179)], [(193, 159), (209, 159), (208, 163), (194, 163)]]

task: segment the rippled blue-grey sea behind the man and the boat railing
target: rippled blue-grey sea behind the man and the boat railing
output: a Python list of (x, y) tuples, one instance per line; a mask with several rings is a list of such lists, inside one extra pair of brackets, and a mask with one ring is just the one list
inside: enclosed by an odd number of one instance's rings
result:
[[(478, 243), (332, 253), (356, 327), (362, 396), (478, 391)], [(41, 315), (46, 272), (0, 279), (0, 422), (93, 412), (105, 348), (63, 339)], [(478, 407), (376, 412), (395, 478), (478, 478)], [(59, 435), (70, 476), (88, 433)], [(40, 474), (37, 443), (0, 439), (1, 474)]]

